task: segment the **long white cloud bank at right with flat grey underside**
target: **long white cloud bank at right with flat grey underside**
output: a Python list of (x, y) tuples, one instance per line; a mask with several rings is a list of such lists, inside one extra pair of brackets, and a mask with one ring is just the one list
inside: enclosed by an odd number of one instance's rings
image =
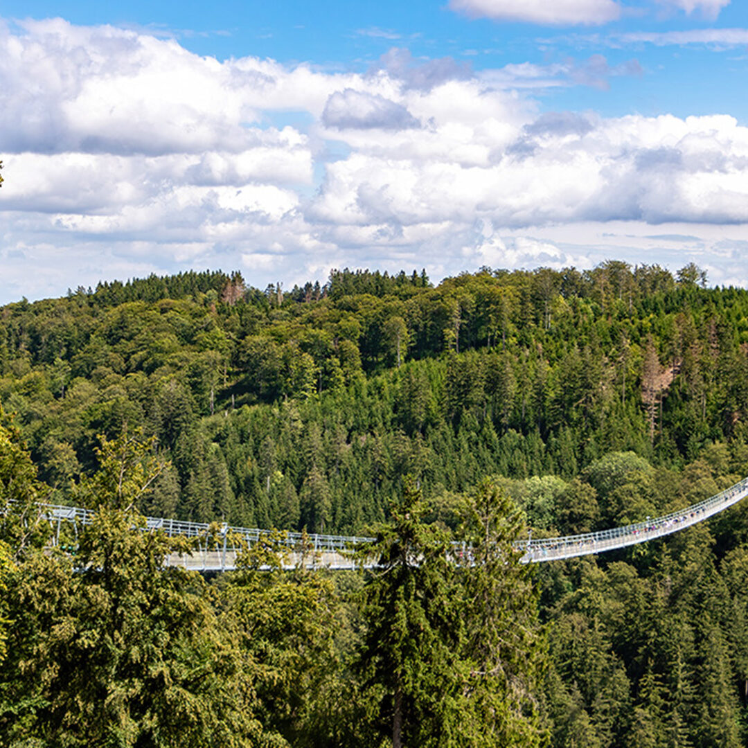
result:
[[(465, 132), (465, 140), (479, 129)], [(479, 141), (479, 140), (478, 140)], [(521, 148), (515, 148), (521, 144)], [(748, 128), (732, 117), (597, 120), (546, 115), (485, 162), (354, 153), (328, 165), (315, 209), (328, 220), (399, 224), (490, 218), (748, 221)]]

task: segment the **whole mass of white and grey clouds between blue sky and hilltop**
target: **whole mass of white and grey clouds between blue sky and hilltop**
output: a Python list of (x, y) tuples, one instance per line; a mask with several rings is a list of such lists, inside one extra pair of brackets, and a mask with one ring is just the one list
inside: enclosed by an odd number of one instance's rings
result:
[[(646, 242), (737, 267), (729, 227), (748, 223), (748, 128), (732, 117), (538, 114), (504, 69), (402, 49), (356, 74), (219, 62), (59, 20), (0, 37), (3, 301), (186, 266), (240, 266), (264, 286), (425, 258), (435, 277), (589, 265), (605, 259), (596, 247), (651, 261)], [(601, 56), (551, 67), (512, 76), (596, 85), (637, 73)], [(310, 124), (270, 125), (289, 110)], [(699, 248), (651, 238), (695, 235), (684, 223), (699, 226)], [(574, 239), (592, 225), (650, 238)], [(710, 225), (726, 245), (704, 238)], [(49, 272), (31, 277), (37, 266)]]

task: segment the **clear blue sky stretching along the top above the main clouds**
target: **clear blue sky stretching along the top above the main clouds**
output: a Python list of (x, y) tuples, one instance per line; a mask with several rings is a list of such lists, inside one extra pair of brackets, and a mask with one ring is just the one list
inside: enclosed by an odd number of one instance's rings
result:
[[(521, 5), (521, 0), (518, 0)], [(351, 2), (177, 1), (126, 4), (10, 0), (1, 4), (6, 19), (60, 16), (79, 25), (112, 24), (162, 37), (219, 60), (254, 55), (286, 64), (308, 61), (327, 70), (365, 71), (393, 46), (414, 58), (443, 58), (473, 70), (506, 64), (562, 63), (604, 55), (611, 67), (639, 61), (637, 76), (616, 76), (610, 89), (578, 86), (544, 97), (545, 108), (594, 108), (606, 116), (631, 111), (734, 114), (748, 117), (744, 89), (748, 39), (742, 45), (666, 43), (673, 31), (747, 29), (748, 4), (733, 1), (717, 16), (691, 13), (666, 4), (642, 2), (625, 7), (619, 19), (604, 24), (539, 25), (509, 19), (471, 17), (446, 2), (402, 0)], [(628, 40), (633, 34), (660, 37), (657, 43)]]

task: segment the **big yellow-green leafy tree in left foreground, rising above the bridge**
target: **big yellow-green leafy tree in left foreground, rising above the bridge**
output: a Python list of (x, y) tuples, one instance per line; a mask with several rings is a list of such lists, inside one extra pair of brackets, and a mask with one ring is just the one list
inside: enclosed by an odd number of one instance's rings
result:
[(37, 553), (10, 586), (11, 657), (0, 683), (4, 743), (256, 744), (254, 695), (231, 620), (204, 583), (164, 559), (183, 539), (138, 531), (156, 476), (147, 445), (102, 440), (80, 493), (96, 502), (71, 561)]

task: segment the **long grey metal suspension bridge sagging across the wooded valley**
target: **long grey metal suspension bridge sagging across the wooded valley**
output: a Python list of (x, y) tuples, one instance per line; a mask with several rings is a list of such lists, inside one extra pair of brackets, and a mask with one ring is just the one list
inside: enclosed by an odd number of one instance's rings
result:
[[(723, 512), (747, 495), (748, 478), (744, 478), (708, 499), (661, 517), (647, 518), (646, 521), (637, 524), (613, 527), (596, 533), (518, 540), (514, 547), (522, 554), (521, 561), (525, 563), (548, 562), (613, 551), (616, 548), (626, 548), (628, 545), (637, 545), (684, 530)], [(55, 530), (56, 543), (60, 542), (62, 527), (72, 525), (73, 536), (77, 538), (79, 528), (91, 524), (94, 517), (94, 512), (90, 509), (76, 506), (43, 504), (41, 509)], [(171, 554), (165, 563), (203, 573), (231, 571), (236, 568), (236, 559), (243, 548), (271, 542), (281, 546), (283, 565), (287, 568), (294, 568), (300, 564), (310, 568), (361, 568), (361, 560), (356, 559), (352, 551), (374, 540), (365, 536), (278, 533), (276, 530), (257, 530), (233, 527), (225, 523), (217, 525), (162, 517), (147, 517), (143, 529), (147, 532), (163, 532), (168, 536), (194, 539), (195, 548), (191, 553)], [(466, 551), (462, 543), (456, 543), (455, 547), (457, 554), (469, 554), (469, 549)], [(370, 565), (375, 565), (375, 561), (372, 560)]]

